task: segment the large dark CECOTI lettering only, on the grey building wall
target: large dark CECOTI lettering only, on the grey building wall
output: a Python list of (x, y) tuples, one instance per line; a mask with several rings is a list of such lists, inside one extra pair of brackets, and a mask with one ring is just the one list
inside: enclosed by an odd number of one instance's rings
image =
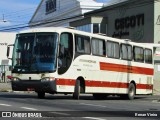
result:
[(133, 15), (130, 17), (120, 18), (115, 20), (115, 29), (134, 28), (144, 25), (144, 14)]

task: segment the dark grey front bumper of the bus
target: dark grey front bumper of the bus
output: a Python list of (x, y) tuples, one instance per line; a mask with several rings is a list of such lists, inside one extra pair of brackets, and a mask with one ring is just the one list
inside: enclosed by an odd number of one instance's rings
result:
[(12, 80), (11, 85), (13, 91), (56, 92), (56, 80)]

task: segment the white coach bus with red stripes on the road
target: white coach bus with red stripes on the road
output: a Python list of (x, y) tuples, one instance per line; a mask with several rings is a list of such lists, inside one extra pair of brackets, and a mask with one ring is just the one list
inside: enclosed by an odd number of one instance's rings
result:
[[(9, 55), (9, 48), (7, 56)], [(153, 47), (68, 28), (19, 32), (12, 57), (12, 89), (45, 93), (119, 95), (153, 91)]]

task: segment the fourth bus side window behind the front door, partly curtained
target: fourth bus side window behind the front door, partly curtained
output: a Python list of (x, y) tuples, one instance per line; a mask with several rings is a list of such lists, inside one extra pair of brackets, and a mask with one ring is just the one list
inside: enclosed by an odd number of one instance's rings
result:
[(121, 44), (121, 59), (132, 60), (132, 46)]

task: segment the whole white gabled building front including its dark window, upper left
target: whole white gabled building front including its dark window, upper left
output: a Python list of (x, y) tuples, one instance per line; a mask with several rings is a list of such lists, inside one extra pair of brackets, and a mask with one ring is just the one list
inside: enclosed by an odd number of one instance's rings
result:
[(42, 0), (29, 26), (69, 26), (69, 22), (78, 20), (84, 13), (102, 6), (103, 3), (95, 0)]

